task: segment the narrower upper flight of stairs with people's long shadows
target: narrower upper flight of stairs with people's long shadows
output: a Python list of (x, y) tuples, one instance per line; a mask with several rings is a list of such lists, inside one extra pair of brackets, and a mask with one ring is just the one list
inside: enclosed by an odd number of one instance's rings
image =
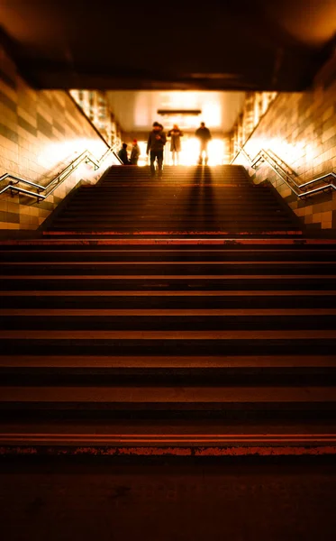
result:
[(112, 167), (83, 186), (52, 222), (52, 234), (115, 235), (301, 234), (289, 207), (270, 186), (253, 185), (240, 166), (168, 167), (163, 179), (148, 168)]

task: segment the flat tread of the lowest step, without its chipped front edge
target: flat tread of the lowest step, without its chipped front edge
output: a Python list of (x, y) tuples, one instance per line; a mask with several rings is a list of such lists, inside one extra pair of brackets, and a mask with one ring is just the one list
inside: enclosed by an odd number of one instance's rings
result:
[(54, 422), (52, 426), (43, 423), (26, 425), (12, 424), (0, 426), (0, 443), (2, 445), (269, 445), (269, 444), (335, 444), (336, 427), (330, 423), (319, 426), (309, 423), (285, 424), (272, 426), (266, 423), (241, 426), (241, 424), (196, 424), (179, 423), (169, 426), (167, 423), (147, 423), (141, 426), (126, 421), (124, 426), (118, 423), (101, 423), (99, 431), (96, 426), (78, 422), (65, 425)]

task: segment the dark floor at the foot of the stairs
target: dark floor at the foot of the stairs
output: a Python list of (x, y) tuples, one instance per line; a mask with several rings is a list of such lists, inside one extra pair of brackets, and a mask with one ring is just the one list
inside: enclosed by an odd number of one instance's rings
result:
[(6, 541), (330, 539), (336, 461), (2, 460)]

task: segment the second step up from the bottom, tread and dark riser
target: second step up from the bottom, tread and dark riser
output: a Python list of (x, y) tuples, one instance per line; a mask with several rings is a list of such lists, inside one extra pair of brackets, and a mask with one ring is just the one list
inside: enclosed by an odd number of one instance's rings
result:
[(253, 410), (259, 408), (331, 408), (336, 413), (336, 387), (38, 387), (7, 386), (0, 411), (26, 408), (116, 410)]

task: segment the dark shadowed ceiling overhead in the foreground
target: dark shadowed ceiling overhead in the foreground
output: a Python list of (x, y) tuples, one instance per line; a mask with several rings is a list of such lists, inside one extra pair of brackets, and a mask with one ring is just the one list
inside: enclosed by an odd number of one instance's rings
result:
[(3, 38), (36, 87), (308, 87), (335, 0), (1, 0)]

